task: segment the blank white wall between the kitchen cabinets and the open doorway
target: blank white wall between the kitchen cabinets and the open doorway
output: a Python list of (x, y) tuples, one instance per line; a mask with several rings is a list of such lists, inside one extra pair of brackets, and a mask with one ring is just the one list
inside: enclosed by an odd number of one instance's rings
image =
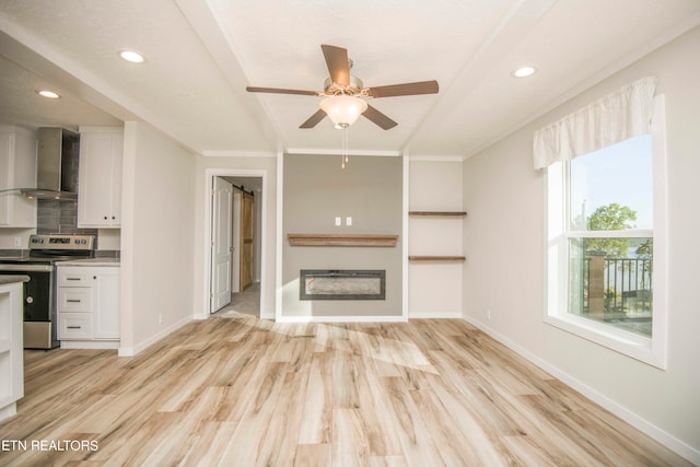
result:
[(119, 353), (128, 355), (192, 319), (197, 157), (133, 121), (124, 138)]

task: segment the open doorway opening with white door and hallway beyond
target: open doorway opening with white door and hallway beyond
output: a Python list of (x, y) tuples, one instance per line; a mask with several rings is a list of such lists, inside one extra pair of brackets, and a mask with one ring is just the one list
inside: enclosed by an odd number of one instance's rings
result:
[(212, 177), (210, 314), (260, 316), (262, 180)]

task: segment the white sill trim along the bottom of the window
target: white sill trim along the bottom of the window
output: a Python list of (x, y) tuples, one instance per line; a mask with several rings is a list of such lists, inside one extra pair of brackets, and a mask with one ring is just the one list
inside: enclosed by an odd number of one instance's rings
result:
[(666, 370), (663, 352), (654, 349), (652, 339), (612, 328), (580, 316), (545, 315), (545, 323), (571, 332), (583, 339), (639, 360), (661, 370)]

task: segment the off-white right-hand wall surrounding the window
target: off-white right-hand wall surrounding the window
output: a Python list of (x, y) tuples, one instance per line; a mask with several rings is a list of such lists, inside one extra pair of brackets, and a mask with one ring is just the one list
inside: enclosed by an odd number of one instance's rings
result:
[[(465, 162), (465, 316), (695, 463), (700, 463), (700, 28)], [(540, 70), (546, 72), (546, 70)], [(544, 182), (536, 129), (645, 75), (666, 95), (668, 365), (646, 365), (542, 322)], [(536, 79), (534, 77), (533, 79)], [(491, 319), (487, 312), (491, 312)]]

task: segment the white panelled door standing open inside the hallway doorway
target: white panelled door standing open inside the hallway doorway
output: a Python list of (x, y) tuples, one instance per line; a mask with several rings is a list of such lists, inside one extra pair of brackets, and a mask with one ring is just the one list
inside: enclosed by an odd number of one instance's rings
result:
[(233, 187), (214, 177), (213, 238), (211, 242), (211, 313), (231, 303), (231, 210)]

